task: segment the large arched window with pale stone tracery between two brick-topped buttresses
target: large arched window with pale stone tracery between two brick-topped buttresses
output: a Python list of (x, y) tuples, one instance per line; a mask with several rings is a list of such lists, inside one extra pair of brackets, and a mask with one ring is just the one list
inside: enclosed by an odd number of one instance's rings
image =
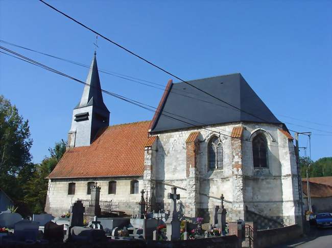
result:
[(208, 167), (210, 170), (223, 169), (224, 151), (223, 143), (219, 137), (213, 136), (208, 142)]

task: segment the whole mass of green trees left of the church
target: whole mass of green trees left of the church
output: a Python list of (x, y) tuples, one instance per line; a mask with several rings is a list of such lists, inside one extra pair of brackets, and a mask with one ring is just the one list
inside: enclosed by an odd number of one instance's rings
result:
[(31, 162), (32, 140), (28, 120), (15, 105), (0, 95), (0, 187), (15, 202), (23, 216), (43, 212), (48, 180), (66, 149), (64, 141), (50, 148), (50, 156), (40, 164)]

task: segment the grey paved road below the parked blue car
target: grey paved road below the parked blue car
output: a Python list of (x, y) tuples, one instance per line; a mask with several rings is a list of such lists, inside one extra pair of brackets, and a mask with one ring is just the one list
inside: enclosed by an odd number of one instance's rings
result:
[(304, 237), (287, 244), (278, 245), (274, 248), (331, 248), (332, 247), (332, 228), (317, 229), (311, 227), (310, 236)]

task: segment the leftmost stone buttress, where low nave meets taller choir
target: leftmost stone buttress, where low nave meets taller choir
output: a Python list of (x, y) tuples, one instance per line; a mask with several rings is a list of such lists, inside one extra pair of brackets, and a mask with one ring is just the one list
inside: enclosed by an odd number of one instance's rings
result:
[[(148, 199), (155, 199), (155, 175), (154, 166), (156, 164), (157, 153), (157, 140), (158, 136), (151, 136), (144, 148), (144, 173), (143, 173), (143, 185), (144, 190), (147, 192)], [(154, 196), (151, 196), (151, 192), (154, 191)], [(155, 202), (154, 202), (155, 205)], [(151, 206), (151, 211), (157, 210), (156, 206)]]

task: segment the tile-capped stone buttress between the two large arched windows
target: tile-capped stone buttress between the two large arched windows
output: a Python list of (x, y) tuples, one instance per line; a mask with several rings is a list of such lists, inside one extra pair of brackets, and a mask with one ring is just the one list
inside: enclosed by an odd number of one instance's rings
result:
[(244, 178), (242, 170), (243, 157), (243, 142), (242, 141), (243, 127), (234, 127), (231, 134), (232, 147), (232, 211), (230, 212), (230, 221), (235, 222), (238, 219), (245, 219), (244, 208)]

